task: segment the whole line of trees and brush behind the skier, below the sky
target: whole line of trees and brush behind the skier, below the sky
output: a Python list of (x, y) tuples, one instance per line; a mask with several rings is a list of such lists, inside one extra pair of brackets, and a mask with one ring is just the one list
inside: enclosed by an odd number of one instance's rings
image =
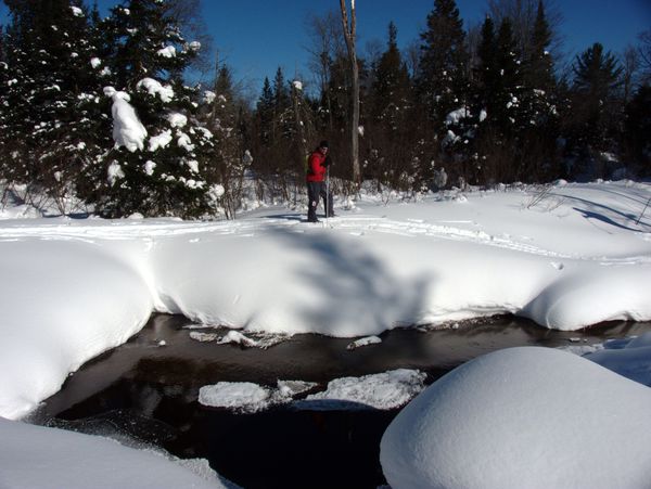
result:
[[(232, 218), (245, 182), (299, 204), (320, 139), (340, 192), (651, 170), (651, 31), (623, 56), (596, 42), (562, 69), (541, 0), (489, 0), (469, 29), (454, 0), (435, 0), (417, 42), (400, 50), (392, 23), (366, 55), (348, 20), (314, 16), (312, 77), (278, 68), (254, 104), (219, 60), (209, 86), (188, 83), (201, 46), (186, 39), (181, 1), (125, 0), (106, 17), (82, 0), (3, 1), (0, 179), (62, 213), (82, 202), (110, 217)], [(135, 144), (113, 134), (124, 103), (146, 128)]]

